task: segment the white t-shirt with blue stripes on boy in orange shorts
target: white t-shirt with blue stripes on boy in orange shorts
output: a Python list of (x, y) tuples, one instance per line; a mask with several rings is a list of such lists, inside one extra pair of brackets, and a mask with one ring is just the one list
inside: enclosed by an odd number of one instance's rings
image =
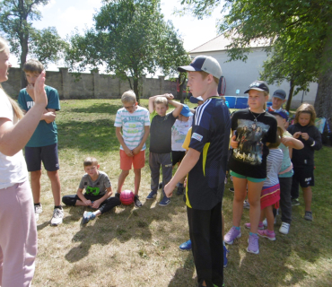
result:
[[(129, 113), (125, 108), (118, 109), (114, 126), (122, 127), (122, 136), (128, 149), (134, 150), (142, 142), (144, 126), (150, 126), (149, 111), (140, 106), (137, 106), (133, 113)], [(142, 151), (145, 148), (144, 143)], [(123, 150), (122, 145), (120, 145), (120, 149)]]

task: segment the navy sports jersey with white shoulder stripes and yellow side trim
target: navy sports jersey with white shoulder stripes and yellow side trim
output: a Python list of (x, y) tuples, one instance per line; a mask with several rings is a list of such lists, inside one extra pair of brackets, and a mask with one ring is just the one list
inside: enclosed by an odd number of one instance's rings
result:
[(221, 98), (209, 98), (197, 108), (189, 148), (200, 156), (188, 173), (188, 207), (211, 210), (222, 202), (230, 132), (230, 112)]

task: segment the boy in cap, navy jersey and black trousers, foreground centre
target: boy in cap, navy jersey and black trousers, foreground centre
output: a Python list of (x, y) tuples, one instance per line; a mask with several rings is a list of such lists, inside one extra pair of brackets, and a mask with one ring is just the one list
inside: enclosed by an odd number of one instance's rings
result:
[(231, 117), (218, 97), (222, 69), (214, 57), (197, 56), (188, 71), (188, 86), (204, 103), (196, 110), (189, 150), (165, 187), (166, 196), (188, 173), (186, 204), (189, 234), (199, 286), (223, 286), (222, 203)]

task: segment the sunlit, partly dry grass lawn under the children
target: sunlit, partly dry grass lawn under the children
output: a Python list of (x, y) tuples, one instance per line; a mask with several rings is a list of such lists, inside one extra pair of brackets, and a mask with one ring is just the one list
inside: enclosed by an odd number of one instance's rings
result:
[[(142, 100), (147, 107), (147, 100)], [(190, 106), (191, 104), (189, 104)], [(62, 195), (75, 194), (83, 176), (83, 159), (92, 155), (112, 182), (118, 185), (119, 143), (114, 120), (120, 100), (62, 100), (57, 115)], [(192, 106), (192, 105), (191, 105)], [(147, 142), (149, 146), (149, 142)], [(64, 223), (51, 227), (53, 197), (46, 172), (42, 176), (43, 213), (39, 216), (39, 253), (33, 286), (197, 286), (191, 252), (179, 251), (188, 240), (188, 222), (182, 196), (174, 193), (161, 207), (145, 201), (150, 192), (148, 153), (140, 189), (143, 207), (118, 206), (97, 220), (81, 225), (83, 207), (64, 207)], [(316, 152), (316, 187), (313, 188), (313, 222), (302, 219), (301, 205), (293, 207), (290, 233), (277, 232), (274, 242), (259, 239), (260, 254), (246, 252), (249, 230), (229, 247), (225, 286), (331, 286), (332, 285), (332, 149)], [(232, 226), (232, 196), (225, 187), (225, 230)], [(133, 171), (124, 189), (134, 189)], [(249, 221), (244, 210), (242, 226)]]

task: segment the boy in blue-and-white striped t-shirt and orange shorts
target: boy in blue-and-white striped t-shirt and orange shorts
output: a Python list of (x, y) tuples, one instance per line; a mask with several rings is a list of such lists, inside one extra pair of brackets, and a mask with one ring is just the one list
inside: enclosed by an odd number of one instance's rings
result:
[[(120, 197), (125, 179), (134, 166), (135, 173), (135, 206), (141, 207), (138, 197), (141, 183), (141, 169), (145, 165), (145, 142), (150, 133), (149, 111), (138, 106), (134, 91), (126, 91), (121, 97), (123, 108), (118, 109), (114, 126), (120, 145), (120, 169), (118, 190), (115, 196)], [(122, 127), (122, 134), (121, 134)]]

